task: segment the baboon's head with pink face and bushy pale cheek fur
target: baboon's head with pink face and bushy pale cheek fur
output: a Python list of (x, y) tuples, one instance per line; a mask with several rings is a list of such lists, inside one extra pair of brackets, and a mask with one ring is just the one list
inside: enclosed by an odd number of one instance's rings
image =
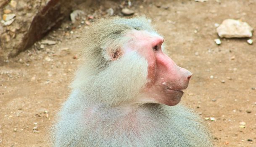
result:
[(179, 103), (192, 74), (163, 52), (164, 38), (147, 19), (103, 20), (85, 34), (87, 65), (98, 64), (93, 89), (87, 90), (91, 97), (106, 103)]

